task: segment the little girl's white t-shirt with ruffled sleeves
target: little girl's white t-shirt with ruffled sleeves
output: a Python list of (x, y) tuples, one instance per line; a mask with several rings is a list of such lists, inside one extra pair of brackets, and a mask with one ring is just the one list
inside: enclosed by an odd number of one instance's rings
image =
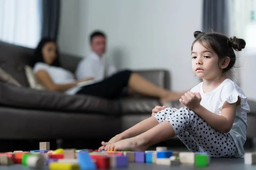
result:
[(238, 149), (236, 157), (244, 156), (243, 146), (246, 141), (246, 131), (248, 127), (247, 113), (250, 112), (247, 97), (241, 88), (231, 79), (225, 79), (221, 85), (209, 93), (204, 93), (203, 83), (204, 82), (199, 83), (190, 91), (199, 92), (202, 97), (200, 104), (215, 114), (221, 115), (222, 106), (226, 101), (235, 103), (238, 100), (238, 96), (241, 98), (241, 105), (236, 107), (236, 118), (229, 133), (233, 137)]

